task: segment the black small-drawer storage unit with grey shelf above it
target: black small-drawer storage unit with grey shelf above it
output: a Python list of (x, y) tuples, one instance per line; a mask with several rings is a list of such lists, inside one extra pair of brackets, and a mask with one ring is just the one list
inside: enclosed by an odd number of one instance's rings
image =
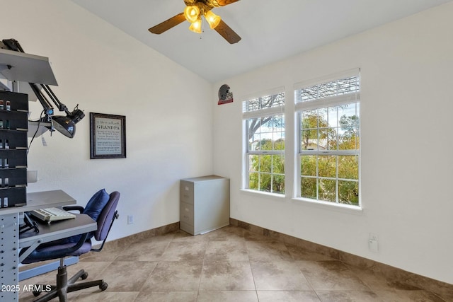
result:
[[(57, 81), (47, 57), (1, 47), (0, 79), (11, 81), (12, 86), (0, 85), (1, 216), (2, 208), (21, 207), (27, 204), (27, 147), (30, 123), (29, 99), (23, 92), (30, 91), (28, 83), (57, 86)], [(32, 123), (30, 127), (38, 126)]]

